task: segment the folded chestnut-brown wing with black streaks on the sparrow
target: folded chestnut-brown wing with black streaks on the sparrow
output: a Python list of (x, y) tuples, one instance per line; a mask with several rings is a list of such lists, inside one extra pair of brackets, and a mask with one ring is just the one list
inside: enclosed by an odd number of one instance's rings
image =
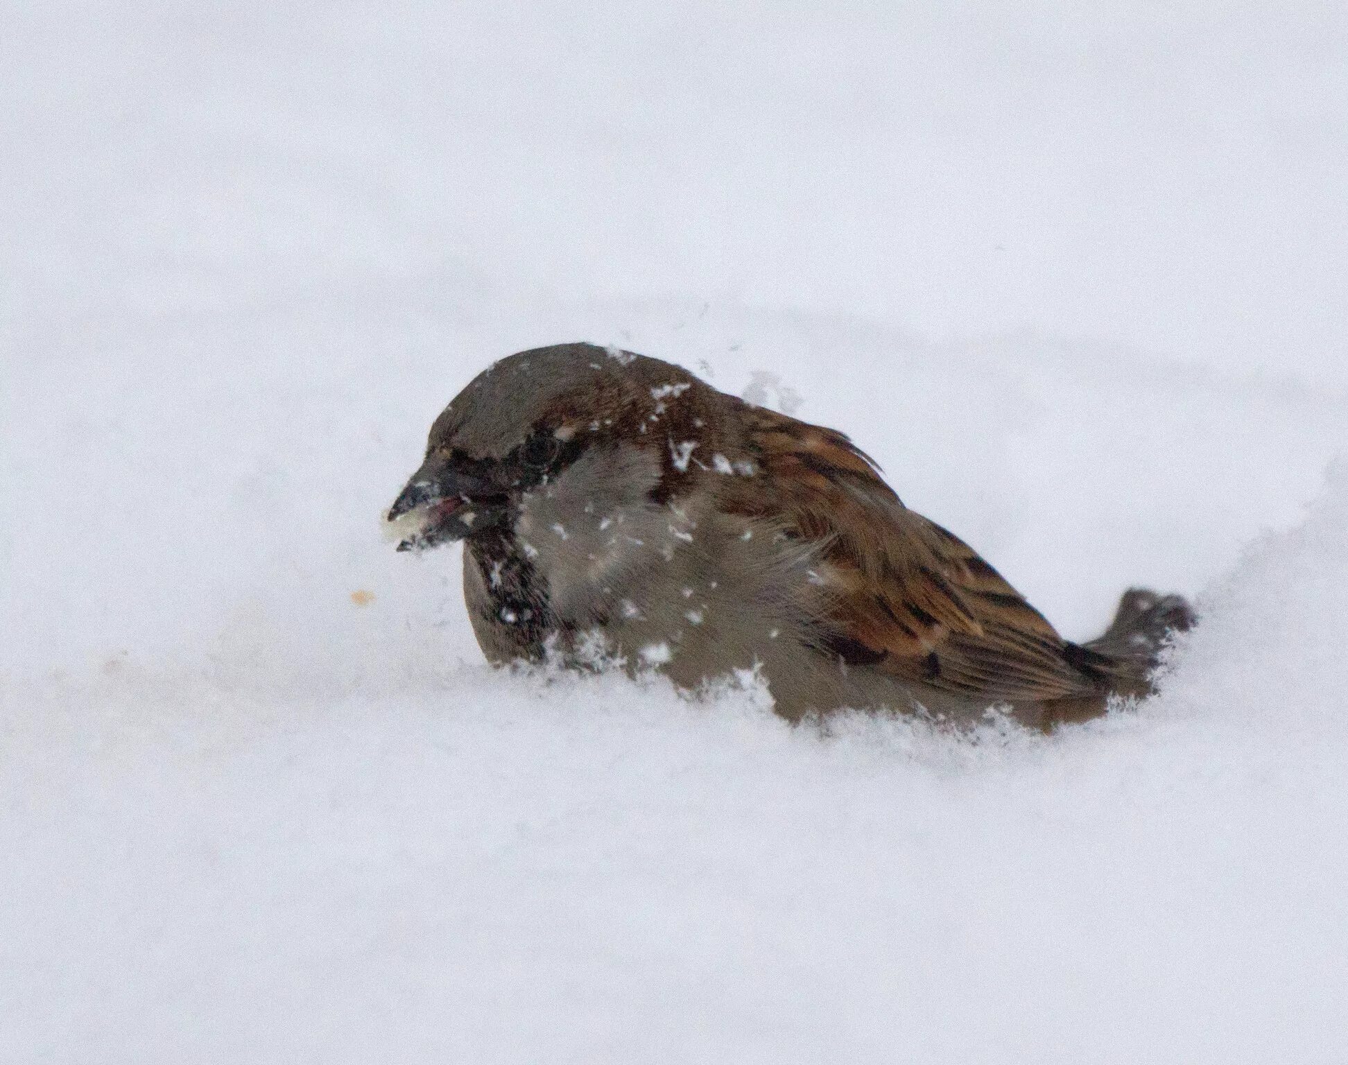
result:
[(1020, 702), (1101, 690), (1081, 648), (967, 543), (907, 510), (845, 435), (767, 410), (748, 417), (774, 491), (754, 492), (747, 510), (825, 545), (833, 592), (825, 646), (848, 662), (967, 696)]

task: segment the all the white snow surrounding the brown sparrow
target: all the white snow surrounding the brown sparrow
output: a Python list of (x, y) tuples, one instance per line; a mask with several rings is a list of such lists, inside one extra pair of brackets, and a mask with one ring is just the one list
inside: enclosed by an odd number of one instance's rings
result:
[[(0, 15), (0, 1060), (1348, 1058), (1348, 16)], [(1202, 624), (1049, 739), (493, 673), (381, 512), (578, 338)]]

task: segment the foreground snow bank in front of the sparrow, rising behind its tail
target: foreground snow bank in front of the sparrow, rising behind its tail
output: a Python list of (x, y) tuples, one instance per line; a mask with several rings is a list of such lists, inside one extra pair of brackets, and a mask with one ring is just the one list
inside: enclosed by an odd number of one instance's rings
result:
[(1341, 1060), (1344, 646), (1340, 466), (1051, 739), (256, 648), (19, 679), (0, 1057)]

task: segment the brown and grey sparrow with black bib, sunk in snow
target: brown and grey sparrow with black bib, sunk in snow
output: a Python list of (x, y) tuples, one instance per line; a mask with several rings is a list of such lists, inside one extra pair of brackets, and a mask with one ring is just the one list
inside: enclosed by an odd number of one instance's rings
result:
[(464, 541), (492, 662), (613, 658), (689, 689), (756, 669), (790, 720), (1000, 705), (1051, 728), (1148, 694), (1193, 621), (1132, 589), (1103, 636), (1065, 640), (841, 433), (590, 344), (483, 371), (387, 516), (400, 550)]

